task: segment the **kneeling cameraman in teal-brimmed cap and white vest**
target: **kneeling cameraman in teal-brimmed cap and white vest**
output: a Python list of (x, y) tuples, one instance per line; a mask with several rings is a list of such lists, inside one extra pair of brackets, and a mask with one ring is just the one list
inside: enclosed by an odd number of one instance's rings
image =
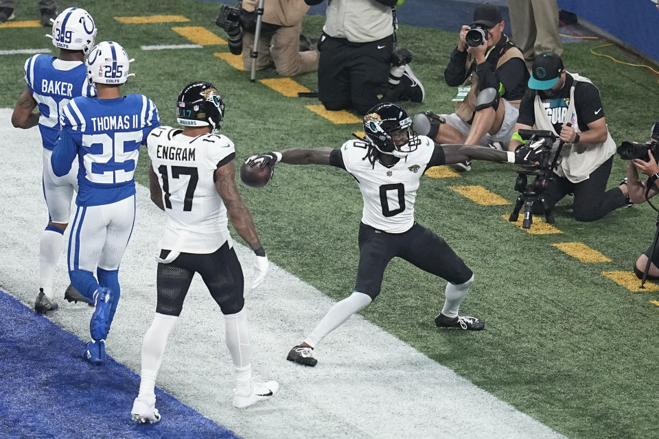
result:
[[(553, 208), (565, 195), (574, 193), (577, 221), (595, 221), (618, 207), (631, 206), (624, 182), (606, 191), (616, 144), (606, 126), (597, 87), (588, 78), (568, 73), (563, 60), (553, 52), (536, 56), (532, 73), (509, 150), (522, 144), (519, 130), (534, 126), (553, 132), (564, 142), (553, 178), (544, 191), (546, 204)], [(534, 213), (543, 210), (536, 205)]]

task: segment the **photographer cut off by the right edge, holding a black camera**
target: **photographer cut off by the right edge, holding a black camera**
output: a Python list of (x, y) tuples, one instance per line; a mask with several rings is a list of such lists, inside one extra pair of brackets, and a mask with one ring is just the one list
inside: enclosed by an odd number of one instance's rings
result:
[[(635, 204), (649, 201), (659, 193), (659, 165), (656, 159), (659, 157), (659, 121), (654, 123), (650, 140), (645, 145), (638, 143), (623, 142), (618, 147), (618, 154), (627, 162), (627, 187), (629, 187), (629, 200)], [(638, 171), (648, 176), (647, 184), (640, 180)], [(652, 206), (655, 210), (657, 208)], [(654, 248), (653, 248), (654, 247)], [(651, 262), (648, 267), (648, 259)], [(634, 274), (639, 279), (647, 270), (647, 279), (656, 281), (659, 279), (659, 246), (651, 245), (638, 257), (634, 264)]]

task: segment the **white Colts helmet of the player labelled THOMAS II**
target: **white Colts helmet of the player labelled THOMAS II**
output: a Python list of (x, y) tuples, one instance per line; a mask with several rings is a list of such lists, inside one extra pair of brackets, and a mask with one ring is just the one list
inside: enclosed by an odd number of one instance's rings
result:
[(87, 81), (90, 85), (97, 84), (124, 84), (129, 76), (130, 63), (126, 50), (114, 41), (101, 41), (89, 52), (84, 64), (87, 67)]

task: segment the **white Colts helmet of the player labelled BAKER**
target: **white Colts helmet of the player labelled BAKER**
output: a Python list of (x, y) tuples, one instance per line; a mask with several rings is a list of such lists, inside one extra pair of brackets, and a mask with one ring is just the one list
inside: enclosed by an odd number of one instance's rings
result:
[(46, 35), (60, 49), (82, 50), (85, 55), (94, 47), (96, 24), (82, 8), (67, 8), (53, 20), (53, 34)]

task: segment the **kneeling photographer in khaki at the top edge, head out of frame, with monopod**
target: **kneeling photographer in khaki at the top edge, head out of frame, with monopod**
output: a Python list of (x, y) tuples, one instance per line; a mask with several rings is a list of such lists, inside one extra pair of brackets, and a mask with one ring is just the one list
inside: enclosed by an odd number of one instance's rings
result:
[[(229, 50), (242, 52), (245, 70), (252, 67), (251, 51), (257, 22), (258, 0), (242, 0), (235, 7), (223, 5), (216, 24), (229, 36)], [(301, 47), (302, 20), (309, 10), (304, 0), (265, 0), (256, 69), (274, 66), (281, 76), (294, 76), (318, 69), (319, 52)]]

